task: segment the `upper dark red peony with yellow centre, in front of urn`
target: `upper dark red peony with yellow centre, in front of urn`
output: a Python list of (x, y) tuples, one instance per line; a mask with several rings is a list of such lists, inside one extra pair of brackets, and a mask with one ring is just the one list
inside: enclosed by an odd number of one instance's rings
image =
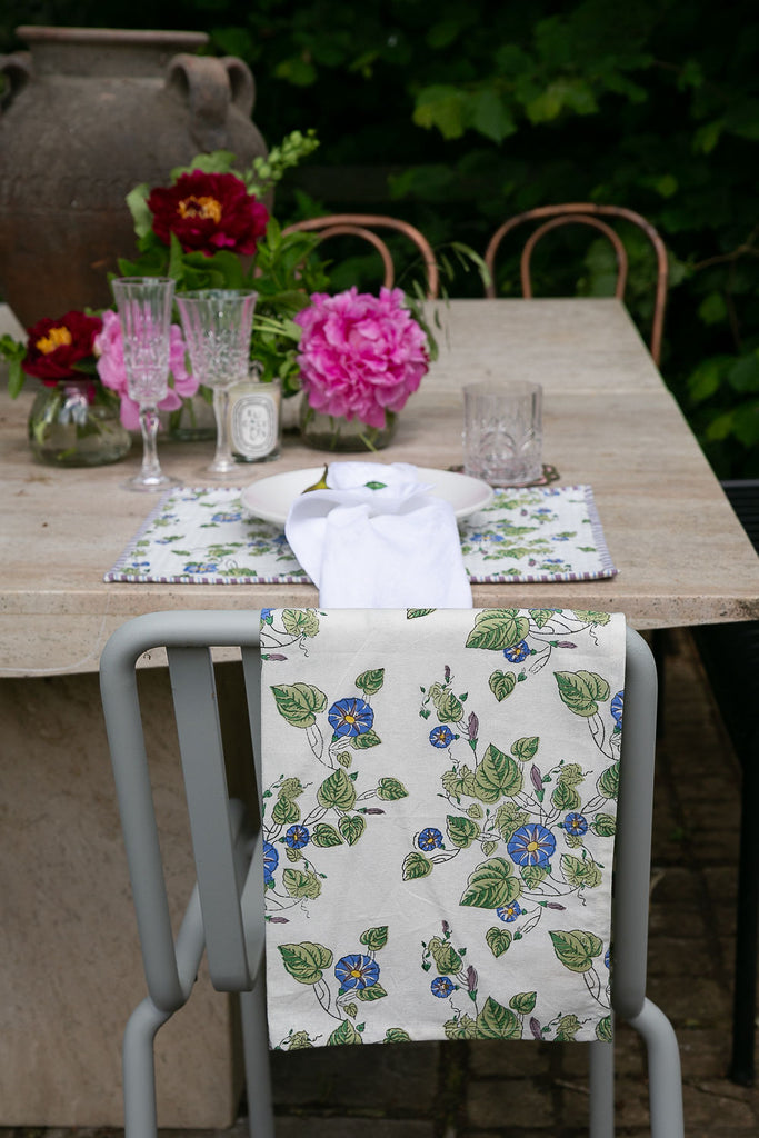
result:
[(196, 249), (206, 256), (220, 249), (254, 254), (269, 221), (266, 207), (248, 193), (239, 178), (200, 170), (152, 190), (148, 208), (152, 231), (164, 245), (171, 245), (175, 233), (184, 253)]

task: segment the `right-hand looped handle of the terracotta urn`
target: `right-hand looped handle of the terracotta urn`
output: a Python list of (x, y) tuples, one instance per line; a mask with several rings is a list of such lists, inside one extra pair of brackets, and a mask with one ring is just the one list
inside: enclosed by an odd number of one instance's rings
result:
[(166, 85), (189, 104), (192, 140), (206, 151), (225, 146), (230, 105), (250, 115), (256, 93), (250, 69), (233, 56), (174, 56), (168, 63)]

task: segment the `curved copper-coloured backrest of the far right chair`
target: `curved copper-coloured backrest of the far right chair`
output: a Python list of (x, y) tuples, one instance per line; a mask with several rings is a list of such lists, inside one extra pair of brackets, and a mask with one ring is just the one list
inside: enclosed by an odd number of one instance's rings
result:
[(528, 209), (525, 213), (515, 214), (513, 217), (509, 217), (508, 221), (505, 221), (495, 231), (485, 251), (485, 264), (487, 265), (490, 274), (490, 282), (487, 286), (486, 295), (488, 297), (495, 297), (495, 257), (504, 237), (518, 225), (522, 225), (527, 222), (535, 222), (541, 224), (537, 225), (525, 244), (520, 262), (521, 288), (523, 296), (533, 296), (530, 262), (535, 246), (541, 238), (545, 237), (546, 233), (550, 233), (559, 226), (579, 224), (588, 225), (597, 230), (611, 242), (617, 256), (617, 284), (614, 296), (618, 299), (622, 299), (627, 284), (627, 251), (619, 238), (619, 234), (610, 224), (602, 220), (603, 217), (617, 217), (632, 222), (646, 234), (653, 247), (657, 258), (657, 283), (650, 351), (653, 361), (658, 366), (661, 362), (661, 338), (665, 327), (665, 308), (667, 305), (667, 249), (654, 226), (646, 221), (645, 217), (635, 213), (633, 209), (627, 209), (624, 206), (599, 206), (593, 203), (580, 201), (569, 203), (566, 205), (541, 206), (537, 209)]

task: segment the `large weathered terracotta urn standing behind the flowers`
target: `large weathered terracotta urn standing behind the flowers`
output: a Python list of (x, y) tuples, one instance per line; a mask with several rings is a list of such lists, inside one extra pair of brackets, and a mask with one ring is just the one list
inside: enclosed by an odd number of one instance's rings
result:
[(195, 52), (200, 32), (19, 27), (0, 56), (0, 299), (28, 327), (113, 303), (107, 273), (137, 251), (126, 193), (168, 184), (199, 152), (265, 155), (241, 59)]

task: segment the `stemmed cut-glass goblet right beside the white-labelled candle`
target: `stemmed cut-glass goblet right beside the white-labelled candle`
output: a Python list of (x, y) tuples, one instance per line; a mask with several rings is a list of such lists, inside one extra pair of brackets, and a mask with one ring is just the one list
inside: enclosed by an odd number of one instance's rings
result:
[(192, 374), (214, 391), (216, 453), (207, 468), (212, 475), (229, 475), (236, 468), (229, 434), (229, 393), (248, 374), (257, 299), (257, 292), (242, 289), (198, 289), (176, 297)]

